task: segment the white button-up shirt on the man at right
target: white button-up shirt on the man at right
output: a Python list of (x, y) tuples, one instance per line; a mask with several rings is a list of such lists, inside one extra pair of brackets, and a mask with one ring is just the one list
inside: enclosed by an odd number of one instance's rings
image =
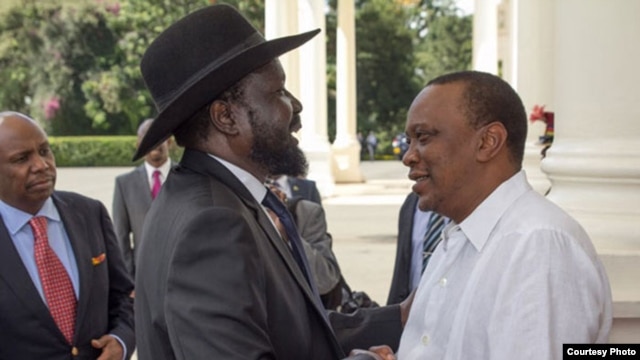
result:
[(606, 342), (611, 289), (584, 229), (523, 171), (449, 223), (420, 281), (398, 359), (562, 359)]

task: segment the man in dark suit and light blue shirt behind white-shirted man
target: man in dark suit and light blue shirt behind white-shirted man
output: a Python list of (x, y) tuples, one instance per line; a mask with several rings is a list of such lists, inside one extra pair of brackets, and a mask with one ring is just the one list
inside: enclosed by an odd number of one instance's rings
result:
[[(418, 208), (418, 195), (409, 193), (400, 207), (398, 216), (398, 245), (396, 248), (396, 261), (393, 268), (391, 288), (387, 304), (399, 304), (404, 301), (413, 290), (418, 287), (422, 272), (425, 270), (425, 262), (428, 262), (430, 253), (424, 253), (424, 240), (430, 228), (431, 220), (436, 215), (432, 211), (421, 211)], [(436, 234), (435, 249), (440, 242), (442, 227), (448, 223), (444, 219), (438, 229), (433, 229)]]

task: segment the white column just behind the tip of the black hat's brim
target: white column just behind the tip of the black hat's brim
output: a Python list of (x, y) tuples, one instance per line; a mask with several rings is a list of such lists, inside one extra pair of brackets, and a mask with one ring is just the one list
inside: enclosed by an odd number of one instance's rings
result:
[(299, 50), (302, 132), (300, 146), (309, 160), (309, 179), (315, 180), (322, 196), (333, 195), (331, 144), (327, 134), (327, 46), (323, 0), (299, 0), (297, 32), (322, 29)]

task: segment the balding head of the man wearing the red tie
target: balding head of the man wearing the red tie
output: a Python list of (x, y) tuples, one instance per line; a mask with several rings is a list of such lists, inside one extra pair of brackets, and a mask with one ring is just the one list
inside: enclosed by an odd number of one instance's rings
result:
[(0, 112), (0, 200), (36, 214), (51, 196), (56, 164), (47, 134), (30, 117)]

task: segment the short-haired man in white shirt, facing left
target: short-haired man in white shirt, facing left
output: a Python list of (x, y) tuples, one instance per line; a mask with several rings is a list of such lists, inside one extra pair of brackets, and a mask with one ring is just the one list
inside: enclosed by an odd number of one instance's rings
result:
[(420, 209), (451, 223), (399, 359), (562, 359), (563, 343), (607, 341), (607, 276), (582, 227), (527, 182), (526, 122), (515, 91), (481, 72), (438, 77), (413, 101), (403, 162)]

